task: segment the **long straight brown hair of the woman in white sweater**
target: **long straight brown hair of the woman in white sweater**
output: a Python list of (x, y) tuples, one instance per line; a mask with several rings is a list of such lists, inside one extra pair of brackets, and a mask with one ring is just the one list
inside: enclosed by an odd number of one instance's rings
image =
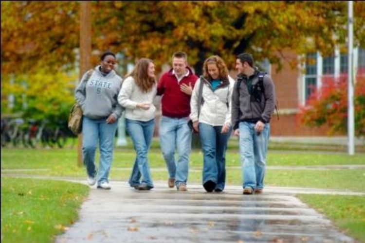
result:
[(136, 85), (144, 93), (151, 91), (153, 85), (156, 85), (156, 79), (148, 76), (148, 66), (150, 63), (153, 63), (151, 59), (141, 58), (134, 69), (126, 75), (126, 77), (132, 76)]

